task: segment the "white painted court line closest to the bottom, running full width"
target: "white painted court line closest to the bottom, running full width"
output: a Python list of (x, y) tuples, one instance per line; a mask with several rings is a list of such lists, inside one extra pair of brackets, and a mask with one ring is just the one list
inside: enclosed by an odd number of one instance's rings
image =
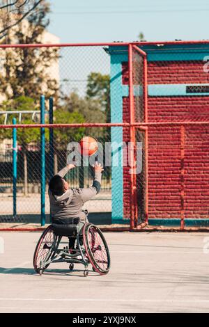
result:
[[(74, 302), (74, 301), (91, 301), (91, 302), (102, 302), (102, 301), (107, 301), (107, 302), (168, 302), (168, 303), (194, 303), (194, 302), (202, 302), (202, 303), (209, 303), (208, 300), (147, 300), (147, 299), (131, 299), (131, 298), (0, 298), (0, 301), (64, 301), (64, 302)], [(1, 307), (0, 307), (1, 308)]]

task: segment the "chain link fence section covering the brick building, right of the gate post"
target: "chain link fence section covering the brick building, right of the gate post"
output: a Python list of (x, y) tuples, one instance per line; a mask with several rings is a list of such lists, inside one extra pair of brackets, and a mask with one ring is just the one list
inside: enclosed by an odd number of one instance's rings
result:
[(149, 218), (208, 225), (209, 47), (156, 48), (148, 50)]

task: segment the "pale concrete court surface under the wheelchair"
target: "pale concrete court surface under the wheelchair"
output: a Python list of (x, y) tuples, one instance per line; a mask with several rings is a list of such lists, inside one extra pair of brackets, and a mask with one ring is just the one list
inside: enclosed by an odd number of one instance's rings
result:
[(209, 312), (206, 232), (105, 233), (111, 271), (87, 278), (65, 263), (36, 275), (39, 232), (0, 237), (0, 312)]

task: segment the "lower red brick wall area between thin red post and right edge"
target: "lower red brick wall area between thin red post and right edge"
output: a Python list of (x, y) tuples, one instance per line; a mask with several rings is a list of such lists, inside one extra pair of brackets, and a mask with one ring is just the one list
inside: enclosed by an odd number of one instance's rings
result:
[(209, 127), (187, 127), (185, 137), (185, 216), (209, 216)]

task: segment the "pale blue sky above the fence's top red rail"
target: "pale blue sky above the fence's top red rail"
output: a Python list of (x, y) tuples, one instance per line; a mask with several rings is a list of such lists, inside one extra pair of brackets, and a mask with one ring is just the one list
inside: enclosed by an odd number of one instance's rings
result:
[(48, 30), (60, 42), (202, 40), (209, 34), (206, 0), (49, 0)]

